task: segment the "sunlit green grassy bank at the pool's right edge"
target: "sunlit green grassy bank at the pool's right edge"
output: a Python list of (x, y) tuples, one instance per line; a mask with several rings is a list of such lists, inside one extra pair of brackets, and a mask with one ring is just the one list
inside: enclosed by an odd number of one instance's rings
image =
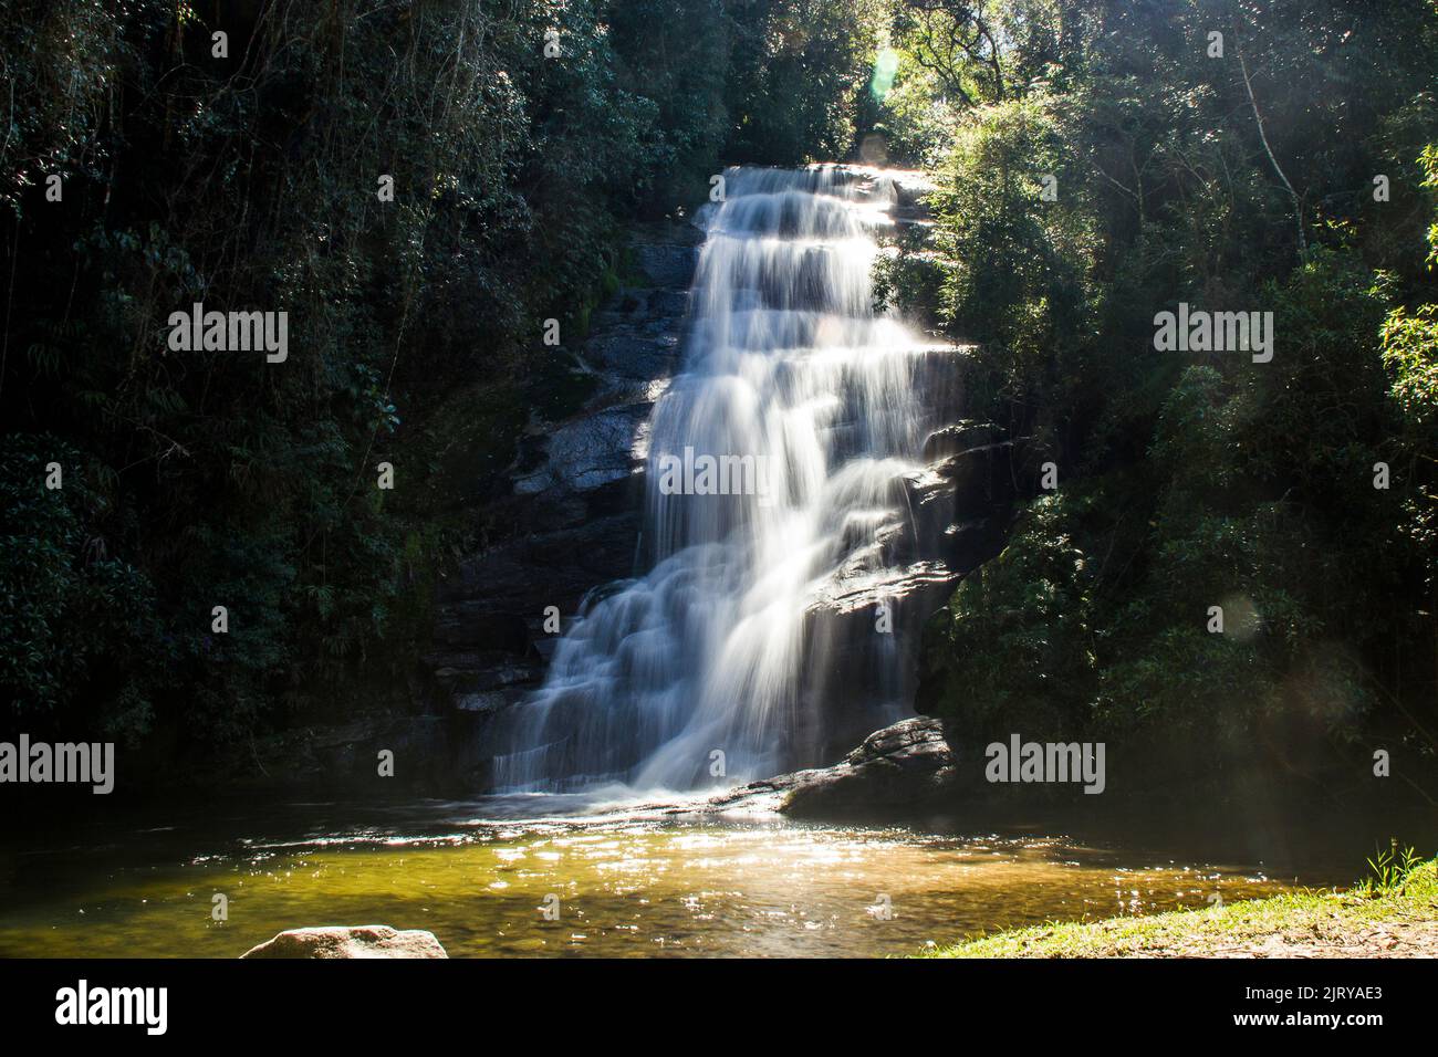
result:
[(929, 951), (932, 958), (1438, 956), (1438, 860), (1380, 860), (1346, 892), (1297, 892), (1150, 918), (1038, 925)]

